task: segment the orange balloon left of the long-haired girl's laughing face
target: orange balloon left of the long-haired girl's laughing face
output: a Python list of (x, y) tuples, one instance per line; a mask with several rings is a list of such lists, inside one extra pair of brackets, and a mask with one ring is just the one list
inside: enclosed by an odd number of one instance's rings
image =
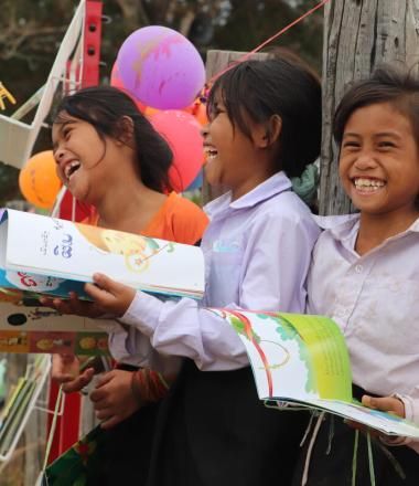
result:
[(31, 157), (19, 173), (19, 188), (24, 199), (37, 208), (51, 209), (62, 187), (52, 150)]

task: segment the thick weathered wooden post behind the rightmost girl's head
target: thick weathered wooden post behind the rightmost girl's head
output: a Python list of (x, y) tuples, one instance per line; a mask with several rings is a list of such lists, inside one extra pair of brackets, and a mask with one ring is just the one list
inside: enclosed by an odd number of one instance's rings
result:
[[(320, 212), (351, 212), (339, 182), (332, 117), (347, 85), (383, 63), (413, 66), (419, 61), (417, 0), (334, 0), (325, 6), (323, 49), (323, 140)], [(418, 64), (415, 66), (418, 70)]]

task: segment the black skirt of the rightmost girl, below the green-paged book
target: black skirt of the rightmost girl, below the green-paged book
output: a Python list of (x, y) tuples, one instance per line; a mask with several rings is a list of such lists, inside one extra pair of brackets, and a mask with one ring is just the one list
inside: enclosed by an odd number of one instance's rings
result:
[[(369, 394), (354, 385), (354, 397)], [(325, 414), (311, 453), (307, 486), (352, 486), (355, 430), (343, 419)], [(307, 437), (292, 486), (300, 486), (311, 434)], [(408, 446), (384, 446), (370, 439), (376, 486), (418, 486), (419, 454)], [(390, 454), (390, 455), (389, 455)], [(356, 453), (356, 486), (372, 485), (367, 435), (359, 432)], [(405, 477), (405, 478), (404, 478)]]

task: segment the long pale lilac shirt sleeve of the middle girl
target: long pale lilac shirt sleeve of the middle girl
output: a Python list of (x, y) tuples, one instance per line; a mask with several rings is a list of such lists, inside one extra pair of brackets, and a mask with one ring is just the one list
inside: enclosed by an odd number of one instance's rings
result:
[[(304, 311), (304, 282), (316, 236), (314, 224), (297, 219), (280, 221), (278, 214), (265, 214), (249, 230), (238, 302), (225, 307)], [(138, 292), (120, 320), (135, 329), (126, 339), (129, 355), (138, 353), (139, 339), (143, 339), (140, 334), (149, 338), (154, 350), (148, 351), (149, 359), (153, 352), (187, 357), (201, 370), (212, 371), (248, 366), (245, 347), (235, 330), (192, 299), (163, 303)]]

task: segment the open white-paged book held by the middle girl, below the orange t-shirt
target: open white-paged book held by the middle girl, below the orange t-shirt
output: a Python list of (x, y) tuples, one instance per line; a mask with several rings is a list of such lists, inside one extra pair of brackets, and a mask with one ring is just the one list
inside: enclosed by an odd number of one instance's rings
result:
[(14, 210), (0, 212), (0, 287), (87, 298), (95, 272), (136, 289), (201, 298), (201, 249)]

